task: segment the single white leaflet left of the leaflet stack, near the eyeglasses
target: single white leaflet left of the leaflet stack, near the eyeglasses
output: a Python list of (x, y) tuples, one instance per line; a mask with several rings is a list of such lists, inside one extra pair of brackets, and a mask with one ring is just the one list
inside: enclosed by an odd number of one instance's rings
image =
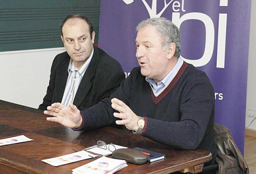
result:
[(97, 155), (94, 155), (92, 153), (82, 150), (82, 151), (70, 153), (70, 154), (55, 157), (55, 158), (43, 159), (42, 161), (47, 164), (50, 164), (52, 166), (61, 166), (64, 164), (69, 164), (69, 163), (73, 163), (76, 161), (89, 159), (89, 158), (92, 158), (92, 156), (96, 157)]

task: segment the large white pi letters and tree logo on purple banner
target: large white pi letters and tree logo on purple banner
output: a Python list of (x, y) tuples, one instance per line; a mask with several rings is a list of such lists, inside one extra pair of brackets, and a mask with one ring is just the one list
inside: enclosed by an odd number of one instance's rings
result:
[[(134, 2), (134, 0), (123, 0), (126, 4), (130, 4)], [(193, 64), (195, 67), (201, 67), (206, 65), (212, 58), (213, 50), (214, 50), (214, 38), (215, 38), (215, 28), (212, 19), (204, 14), (198, 12), (186, 13), (182, 17), (180, 17), (180, 12), (186, 12), (184, 0), (181, 2), (176, 0), (170, 0), (162, 7), (162, 10), (157, 13), (157, 0), (152, 0), (152, 6), (150, 7), (146, 0), (142, 0), (143, 4), (145, 5), (150, 18), (159, 18), (161, 17), (164, 10), (171, 5), (172, 3), (172, 19), (171, 21), (180, 27), (180, 25), (187, 21), (187, 20), (199, 20), (205, 25), (205, 48), (204, 53), (201, 57), (197, 58), (196, 60), (191, 60), (183, 57), (183, 59)], [(227, 0), (220, 0), (220, 6), (227, 6)], [(225, 41), (226, 41), (226, 23), (227, 23), (227, 14), (222, 13), (219, 14), (219, 27), (218, 27), (218, 49), (217, 49), (217, 68), (224, 68), (225, 63)]]

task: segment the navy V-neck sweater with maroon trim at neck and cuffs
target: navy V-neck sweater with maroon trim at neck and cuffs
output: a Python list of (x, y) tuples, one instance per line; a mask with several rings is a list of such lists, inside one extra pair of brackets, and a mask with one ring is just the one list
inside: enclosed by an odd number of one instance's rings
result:
[(81, 112), (83, 123), (78, 130), (114, 124), (112, 98), (121, 99), (136, 115), (144, 117), (141, 135), (173, 149), (206, 149), (216, 156), (214, 90), (207, 75), (191, 64), (184, 62), (158, 97), (140, 68), (134, 68), (110, 98)]

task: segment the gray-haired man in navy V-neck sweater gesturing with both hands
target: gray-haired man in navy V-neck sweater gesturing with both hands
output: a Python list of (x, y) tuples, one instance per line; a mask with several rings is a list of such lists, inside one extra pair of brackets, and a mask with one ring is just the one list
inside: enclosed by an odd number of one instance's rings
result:
[(74, 130), (125, 125), (175, 149), (206, 149), (216, 156), (213, 139), (215, 99), (207, 75), (180, 57), (179, 29), (165, 18), (137, 26), (134, 68), (110, 98), (87, 110), (61, 103), (48, 106), (47, 121)]

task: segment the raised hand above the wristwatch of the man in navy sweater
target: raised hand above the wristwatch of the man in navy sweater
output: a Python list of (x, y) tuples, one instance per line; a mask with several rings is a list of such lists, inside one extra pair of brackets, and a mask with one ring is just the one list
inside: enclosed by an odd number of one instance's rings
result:
[(111, 99), (111, 106), (113, 109), (119, 111), (120, 113), (115, 112), (113, 115), (116, 118), (122, 120), (117, 120), (116, 124), (124, 124), (129, 130), (137, 130), (137, 120), (138, 116), (120, 99)]

